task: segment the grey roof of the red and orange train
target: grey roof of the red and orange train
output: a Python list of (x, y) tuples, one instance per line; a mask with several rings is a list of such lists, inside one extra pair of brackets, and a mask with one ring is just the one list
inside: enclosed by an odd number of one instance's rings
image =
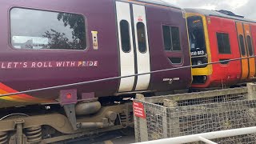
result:
[(206, 9), (185, 9), (185, 10), (186, 10), (186, 12), (204, 14), (206, 16), (216, 16), (216, 17), (221, 17), (221, 18), (230, 18), (230, 19), (234, 19), (234, 20), (238, 20), (238, 21), (256, 23), (256, 21), (254, 21), (254, 20), (244, 18), (243, 16), (233, 14), (230, 11), (226, 11), (226, 10), (218, 10), (218, 11), (217, 10), (206, 10)]

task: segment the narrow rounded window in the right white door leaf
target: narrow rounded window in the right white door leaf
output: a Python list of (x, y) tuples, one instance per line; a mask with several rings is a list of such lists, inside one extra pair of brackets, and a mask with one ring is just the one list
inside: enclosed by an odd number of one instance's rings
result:
[(143, 22), (137, 23), (138, 50), (141, 53), (146, 52), (146, 31)]

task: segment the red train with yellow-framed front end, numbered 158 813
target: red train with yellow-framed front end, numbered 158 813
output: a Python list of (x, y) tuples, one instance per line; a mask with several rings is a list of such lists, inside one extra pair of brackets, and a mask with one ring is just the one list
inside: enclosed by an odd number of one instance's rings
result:
[(186, 18), (193, 88), (253, 81), (255, 60), (248, 58), (254, 56), (253, 21), (226, 10), (186, 9)]

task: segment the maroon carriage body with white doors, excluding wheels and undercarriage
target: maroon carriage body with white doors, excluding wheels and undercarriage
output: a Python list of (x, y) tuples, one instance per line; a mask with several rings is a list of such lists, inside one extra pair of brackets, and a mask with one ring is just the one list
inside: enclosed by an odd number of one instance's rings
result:
[[(185, 15), (165, 3), (7, 1), (1, 15), (2, 94), (190, 66)], [(81, 99), (186, 89), (190, 82), (190, 68), (170, 70), (11, 96), (0, 106), (55, 101), (60, 90), (78, 90)]]

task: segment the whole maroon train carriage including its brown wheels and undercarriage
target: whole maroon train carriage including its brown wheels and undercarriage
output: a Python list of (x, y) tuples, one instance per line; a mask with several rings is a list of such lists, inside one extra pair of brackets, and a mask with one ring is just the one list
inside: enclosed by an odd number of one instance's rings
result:
[[(0, 12), (1, 94), (190, 66), (185, 12), (165, 2), (8, 0)], [(22, 114), (2, 111), (0, 143), (54, 142), (58, 133), (128, 125), (130, 104), (114, 104), (120, 95), (190, 83), (186, 68), (2, 97), (1, 108), (26, 107), (18, 109)], [(37, 104), (46, 110), (27, 106)], [(52, 108), (60, 105), (66, 114)], [(58, 133), (37, 133), (46, 128)]]

